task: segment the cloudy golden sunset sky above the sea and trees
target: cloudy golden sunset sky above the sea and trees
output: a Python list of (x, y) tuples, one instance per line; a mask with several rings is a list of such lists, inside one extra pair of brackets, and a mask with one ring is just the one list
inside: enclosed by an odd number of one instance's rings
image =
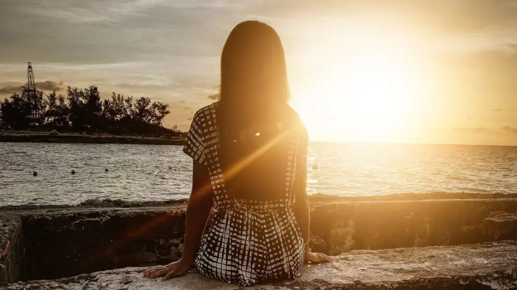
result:
[(169, 103), (187, 129), (213, 100), (231, 29), (279, 33), (313, 141), (517, 145), (517, 1), (3, 0), (0, 98), (95, 84)]

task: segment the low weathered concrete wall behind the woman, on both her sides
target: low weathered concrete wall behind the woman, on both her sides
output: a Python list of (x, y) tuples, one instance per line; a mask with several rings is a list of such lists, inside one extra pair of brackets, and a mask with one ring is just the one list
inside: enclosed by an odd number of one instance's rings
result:
[[(425, 196), (429, 199), (412, 201), (407, 200), (410, 195), (393, 195), (347, 202), (341, 197), (310, 197), (310, 246), (317, 252), (339, 255), (358, 249), (517, 239), (517, 199), (458, 194), (458, 199), (437, 200), (432, 197), (442, 194)], [(404, 199), (399, 200), (401, 197)], [(0, 266), (0, 279), (57, 279), (176, 260), (182, 247), (185, 207), (186, 201), (90, 200), (73, 207), (0, 208), (0, 220), (18, 221), (18, 227), (0, 226), (0, 249), (6, 253), (0, 258), (6, 269), (2, 272)], [(7, 233), (3, 228), (11, 230)], [(12, 238), (17, 236), (15, 228), (22, 229), (19, 239)]]

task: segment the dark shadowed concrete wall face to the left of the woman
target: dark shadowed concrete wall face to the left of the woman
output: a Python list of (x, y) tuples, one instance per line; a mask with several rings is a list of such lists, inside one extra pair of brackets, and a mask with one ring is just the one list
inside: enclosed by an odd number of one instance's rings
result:
[(56, 279), (177, 260), (185, 213), (174, 207), (58, 210), (26, 216), (23, 227), (27, 276)]

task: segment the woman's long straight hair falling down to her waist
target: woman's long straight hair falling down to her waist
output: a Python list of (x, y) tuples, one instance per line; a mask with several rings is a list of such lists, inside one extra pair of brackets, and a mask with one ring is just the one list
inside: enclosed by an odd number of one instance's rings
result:
[(289, 100), (280, 37), (265, 23), (239, 23), (222, 51), (216, 111), (218, 159), (229, 195), (285, 198), (286, 136), (295, 115)]

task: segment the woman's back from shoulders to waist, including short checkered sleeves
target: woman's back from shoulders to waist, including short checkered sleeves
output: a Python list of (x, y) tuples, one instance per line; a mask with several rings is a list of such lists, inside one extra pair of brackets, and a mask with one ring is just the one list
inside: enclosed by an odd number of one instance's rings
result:
[(297, 164), (306, 162), (308, 145), (296, 112), (286, 105), (277, 121), (238, 124), (233, 133), (221, 130), (220, 106), (196, 112), (185, 149), (208, 166), (214, 206), (292, 205)]

